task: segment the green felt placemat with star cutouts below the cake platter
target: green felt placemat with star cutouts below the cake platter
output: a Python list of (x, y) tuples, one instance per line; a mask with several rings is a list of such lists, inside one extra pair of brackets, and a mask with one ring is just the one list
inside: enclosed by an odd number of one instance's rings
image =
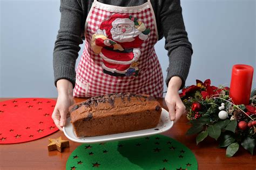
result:
[(73, 151), (66, 169), (198, 169), (186, 146), (164, 135), (83, 144)]

